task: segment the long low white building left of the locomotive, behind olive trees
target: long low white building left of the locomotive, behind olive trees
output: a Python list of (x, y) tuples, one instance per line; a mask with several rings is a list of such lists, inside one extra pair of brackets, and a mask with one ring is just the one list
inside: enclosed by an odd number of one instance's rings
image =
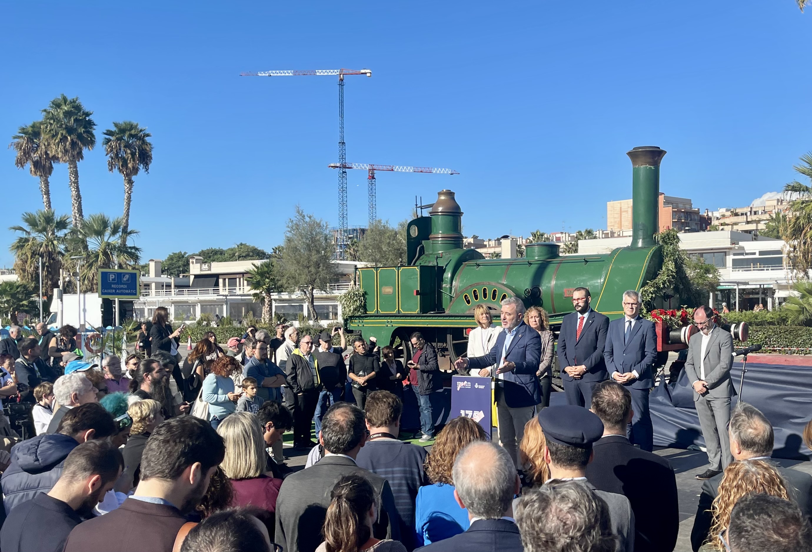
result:
[[(262, 305), (253, 299), (248, 287), (248, 270), (263, 261), (203, 262), (202, 257), (189, 258), (189, 274), (170, 277), (161, 274), (161, 261), (149, 261), (149, 275), (141, 277), (141, 297), (133, 303), (137, 320), (151, 318), (155, 308), (169, 309), (172, 320), (197, 320), (201, 314), (229, 316), (235, 321), (253, 313), (260, 318)], [(341, 320), (338, 297), (347, 291), (363, 262), (332, 261), (339, 278), (326, 290), (317, 290), (315, 305), (321, 321)], [(309, 306), (302, 293), (274, 293), (271, 312), (281, 314), (297, 324), (300, 315), (309, 318)]]

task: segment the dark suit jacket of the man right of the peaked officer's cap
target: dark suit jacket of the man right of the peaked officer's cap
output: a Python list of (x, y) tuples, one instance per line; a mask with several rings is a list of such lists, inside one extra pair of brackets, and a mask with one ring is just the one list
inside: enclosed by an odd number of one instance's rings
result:
[(667, 459), (641, 451), (620, 435), (594, 443), (586, 478), (596, 489), (624, 494), (634, 512), (635, 552), (674, 550), (680, 530), (676, 477)]

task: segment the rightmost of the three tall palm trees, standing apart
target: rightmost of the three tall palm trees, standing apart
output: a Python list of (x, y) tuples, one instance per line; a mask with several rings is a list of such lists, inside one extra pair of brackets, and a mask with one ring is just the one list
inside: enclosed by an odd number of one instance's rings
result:
[(149, 174), (149, 165), (152, 163), (152, 143), (147, 140), (151, 134), (138, 123), (124, 121), (113, 123), (114, 130), (109, 128), (104, 132), (106, 138), (102, 140), (107, 154), (107, 170), (118, 170), (124, 177), (124, 214), (123, 232), (127, 233), (130, 226), (130, 201), (132, 201), (132, 177), (140, 169)]

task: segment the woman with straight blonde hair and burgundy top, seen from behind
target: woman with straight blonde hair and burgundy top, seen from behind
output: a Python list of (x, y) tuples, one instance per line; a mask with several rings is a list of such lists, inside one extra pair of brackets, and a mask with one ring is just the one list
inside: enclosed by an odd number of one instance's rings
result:
[(276, 498), (281, 479), (266, 474), (268, 453), (262, 426), (256, 414), (235, 412), (217, 427), (217, 433), (226, 445), (226, 455), (220, 468), (231, 480), (234, 488), (232, 507), (250, 506), (262, 511), (257, 515), (269, 531), (274, 530)]

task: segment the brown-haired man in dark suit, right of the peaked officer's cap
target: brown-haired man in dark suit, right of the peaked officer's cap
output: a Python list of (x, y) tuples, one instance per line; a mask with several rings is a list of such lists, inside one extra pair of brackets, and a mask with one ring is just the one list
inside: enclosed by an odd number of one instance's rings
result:
[(680, 530), (676, 477), (667, 459), (641, 451), (626, 438), (633, 395), (617, 382), (592, 391), (592, 412), (603, 422), (603, 437), (592, 446), (586, 478), (596, 488), (623, 494), (634, 511), (635, 552), (670, 552)]

